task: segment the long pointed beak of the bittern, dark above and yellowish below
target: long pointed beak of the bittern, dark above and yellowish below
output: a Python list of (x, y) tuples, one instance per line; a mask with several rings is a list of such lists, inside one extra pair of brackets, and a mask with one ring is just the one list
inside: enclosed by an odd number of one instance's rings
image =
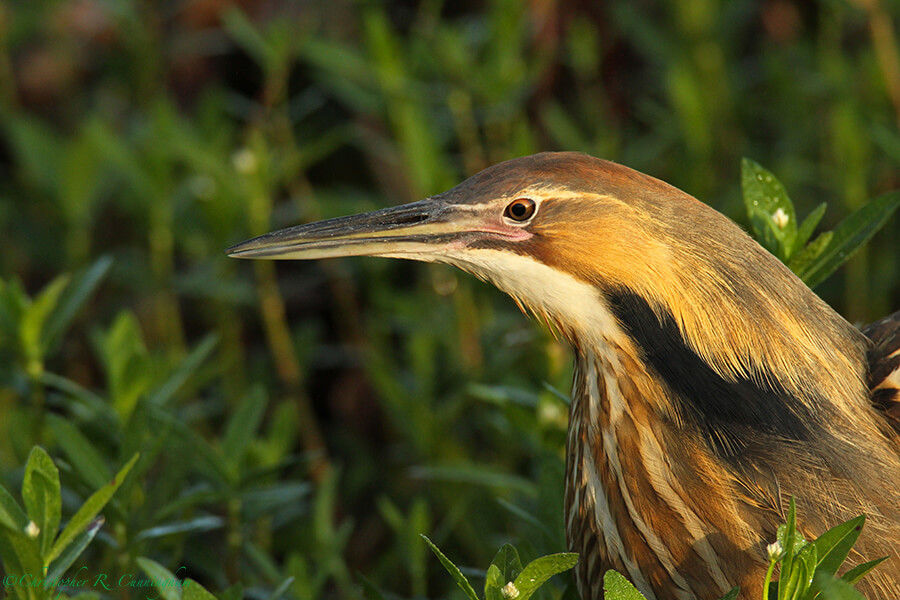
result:
[(432, 255), (480, 230), (477, 217), (439, 197), (267, 233), (225, 252), (235, 258), (315, 259)]

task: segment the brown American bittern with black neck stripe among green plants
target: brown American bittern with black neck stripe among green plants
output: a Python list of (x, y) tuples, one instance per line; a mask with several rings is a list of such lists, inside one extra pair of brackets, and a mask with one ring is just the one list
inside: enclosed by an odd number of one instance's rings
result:
[(866, 514), (851, 559), (891, 558), (860, 589), (900, 598), (900, 313), (861, 333), (684, 192), (538, 154), (229, 253), (449, 263), (555, 327), (576, 356), (566, 529), (583, 598), (607, 568), (648, 598), (759, 598), (790, 496), (807, 539)]

